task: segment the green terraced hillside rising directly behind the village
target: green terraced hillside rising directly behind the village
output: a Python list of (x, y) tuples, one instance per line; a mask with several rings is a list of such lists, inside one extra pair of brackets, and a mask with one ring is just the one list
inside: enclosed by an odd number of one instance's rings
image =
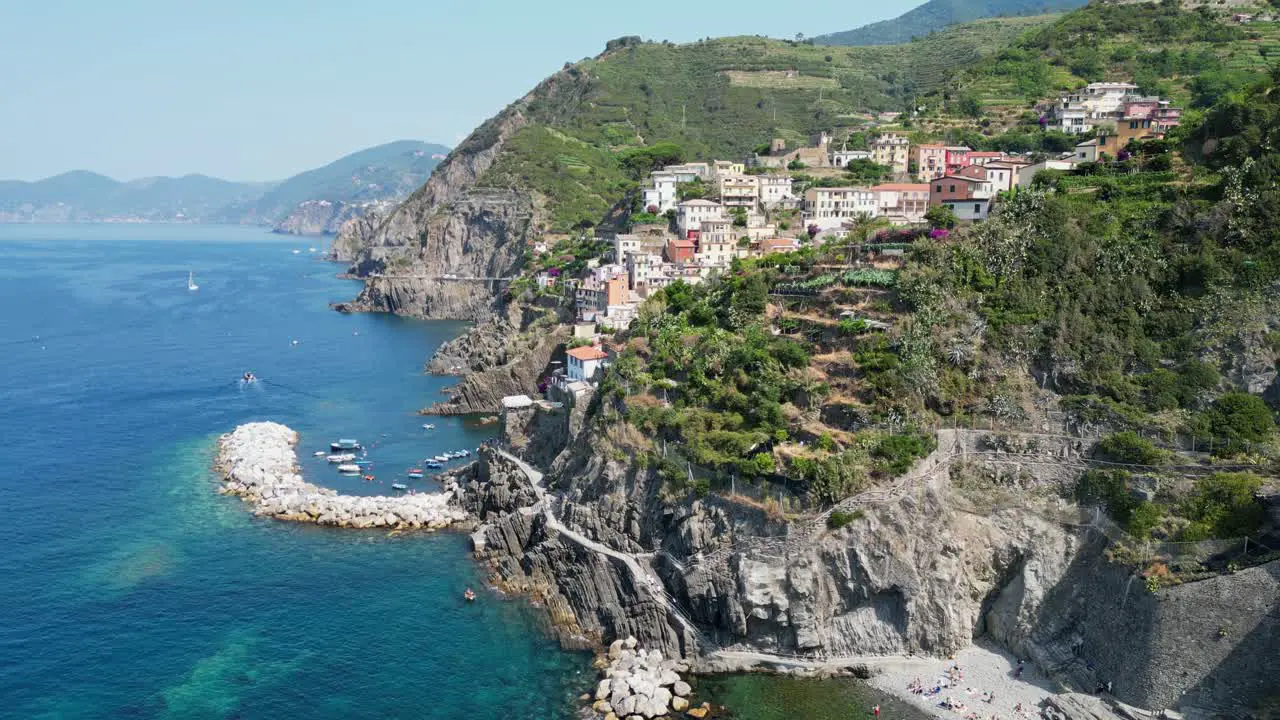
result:
[[(527, 108), (534, 122), (481, 184), (518, 184), (550, 199), (547, 229), (594, 224), (635, 187), (616, 151), (673, 141), (687, 158), (741, 158), (771, 137), (804, 142), (819, 131), (860, 124), (858, 113), (901, 110), (941, 90), (957, 64), (978, 61), (1048, 22), (984, 20), (877, 47), (759, 37), (622, 45), (547, 85)], [(791, 70), (796, 77), (786, 77)]]

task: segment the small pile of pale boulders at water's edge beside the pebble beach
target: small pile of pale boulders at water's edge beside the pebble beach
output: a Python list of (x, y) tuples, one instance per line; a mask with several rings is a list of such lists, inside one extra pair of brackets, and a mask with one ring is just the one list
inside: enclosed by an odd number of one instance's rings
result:
[(680, 679), (689, 666), (657, 650), (636, 650), (636, 639), (613, 641), (600, 669), (591, 710), (604, 720), (648, 720), (689, 710), (692, 689)]

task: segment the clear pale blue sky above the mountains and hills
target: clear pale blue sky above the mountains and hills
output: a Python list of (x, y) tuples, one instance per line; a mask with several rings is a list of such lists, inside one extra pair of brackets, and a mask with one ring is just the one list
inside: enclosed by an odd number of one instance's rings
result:
[(822, 35), (920, 1), (0, 0), (0, 179), (271, 181), (453, 146), (614, 37)]

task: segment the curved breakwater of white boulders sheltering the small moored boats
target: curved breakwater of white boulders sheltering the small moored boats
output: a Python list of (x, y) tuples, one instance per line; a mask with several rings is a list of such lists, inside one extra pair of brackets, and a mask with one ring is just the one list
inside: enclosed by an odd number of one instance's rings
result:
[(238, 495), (255, 515), (340, 528), (447, 528), (467, 520), (448, 493), (362, 497), (302, 479), (298, 433), (279, 423), (248, 423), (218, 439), (224, 495)]

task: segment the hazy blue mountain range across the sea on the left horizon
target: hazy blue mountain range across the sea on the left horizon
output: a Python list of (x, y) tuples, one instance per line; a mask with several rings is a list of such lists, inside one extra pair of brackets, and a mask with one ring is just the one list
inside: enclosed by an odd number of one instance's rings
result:
[(402, 140), (264, 183), (198, 174), (120, 182), (87, 170), (0, 181), (0, 223), (237, 223), (335, 232), (335, 223), (361, 206), (407, 196), (448, 152), (443, 145)]

